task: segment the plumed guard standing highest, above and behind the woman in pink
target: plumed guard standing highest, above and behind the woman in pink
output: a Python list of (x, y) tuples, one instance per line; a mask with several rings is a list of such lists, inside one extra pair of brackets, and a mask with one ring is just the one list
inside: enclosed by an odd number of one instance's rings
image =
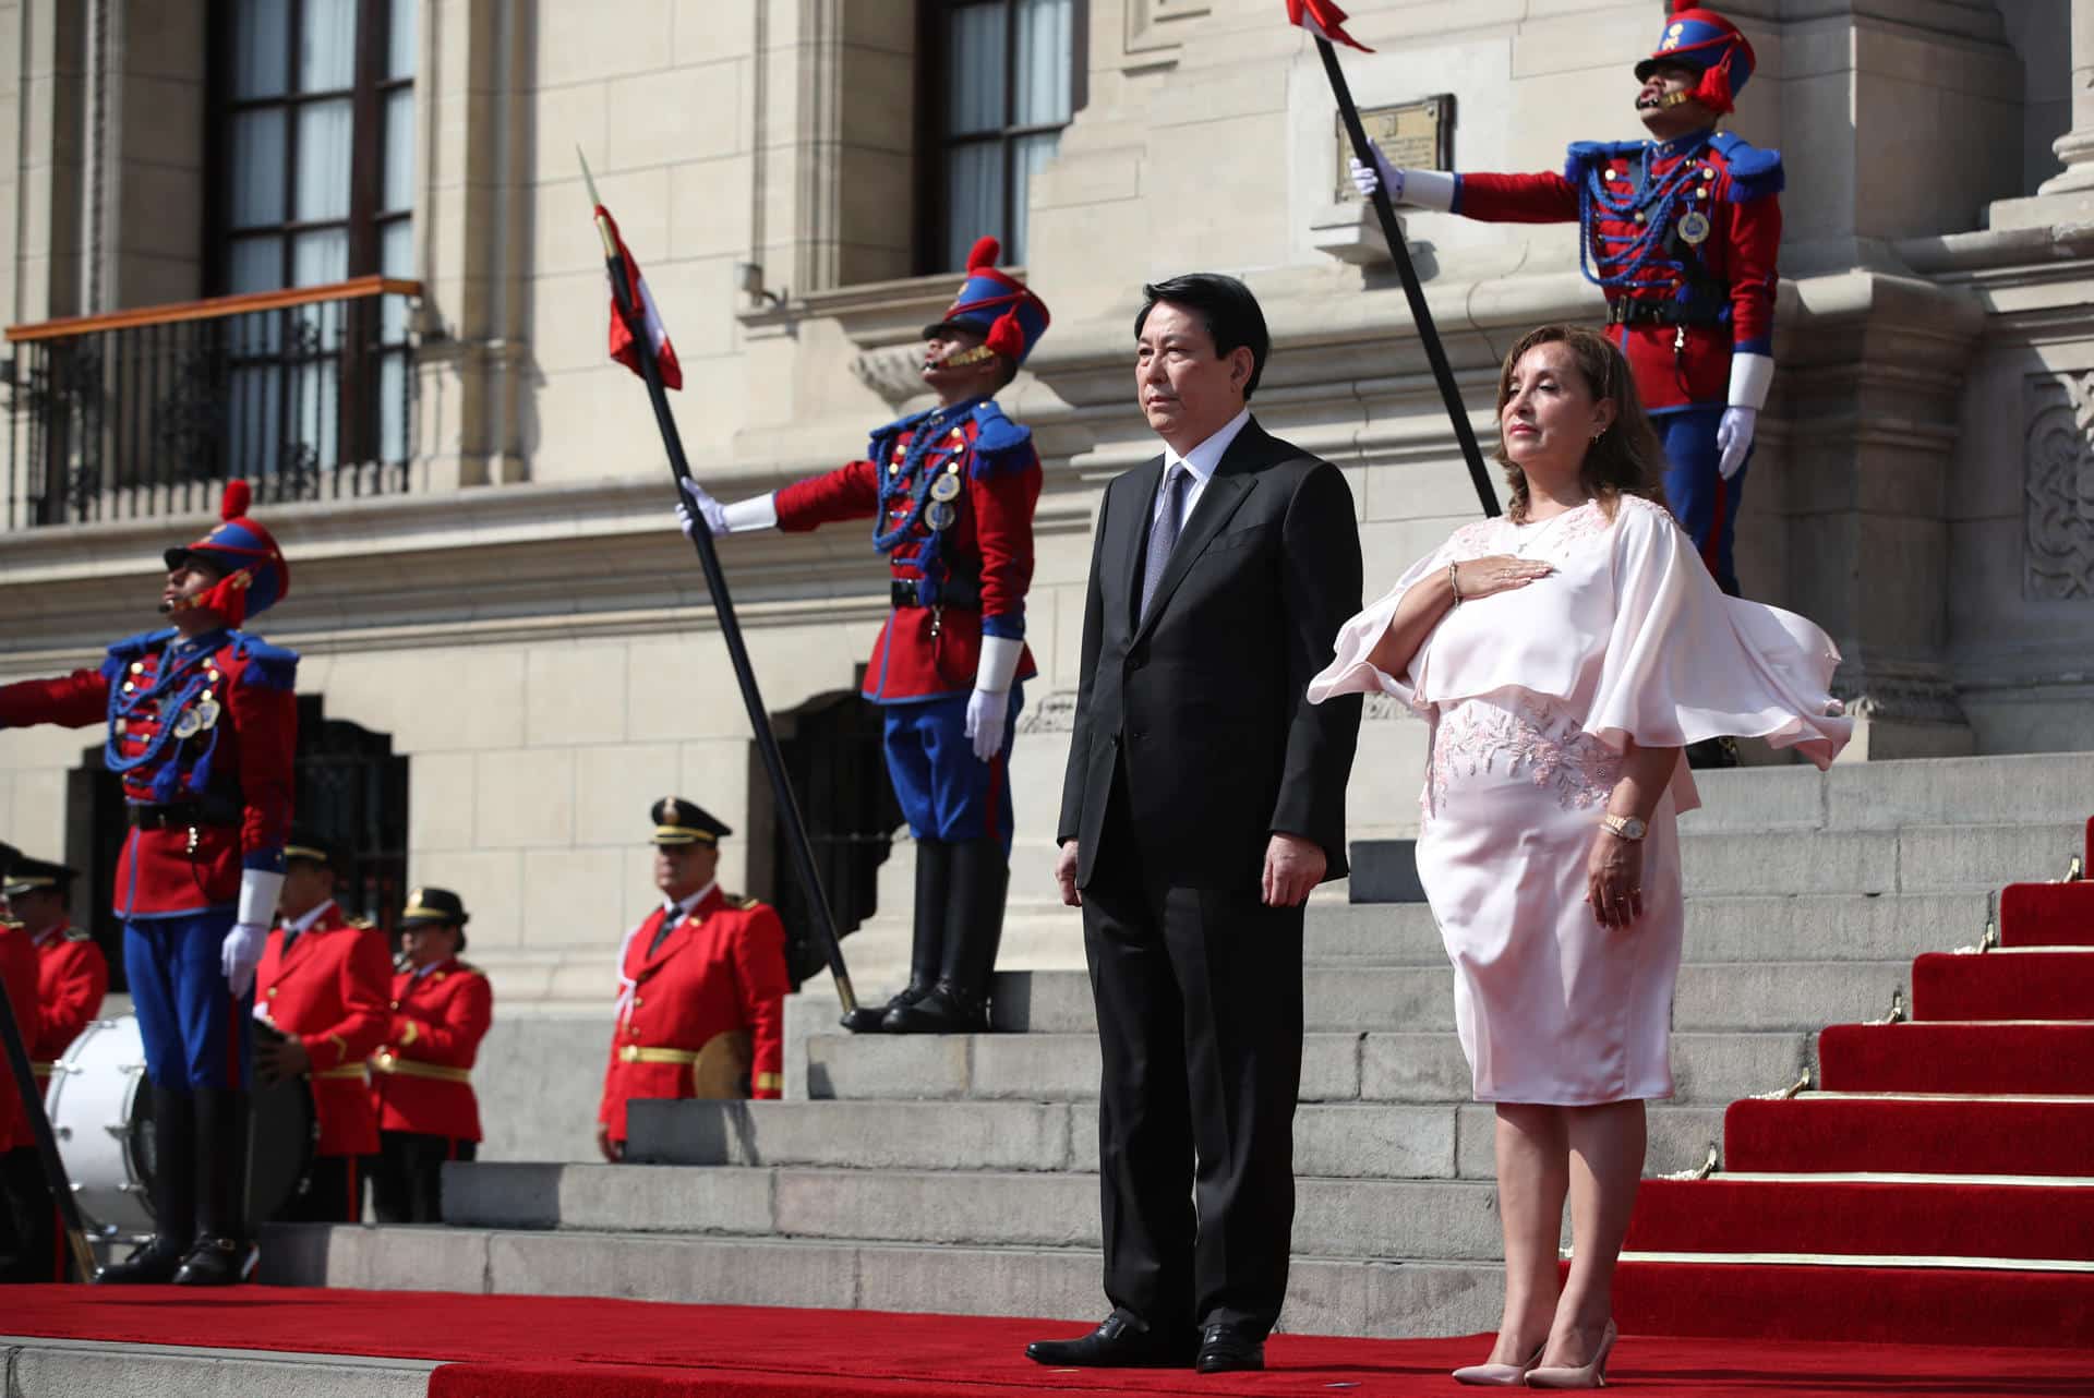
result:
[(1719, 132), (1753, 75), (1753, 46), (1715, 10), (1675, 0), (1635, 65), (1650, 140), (1570, 146), (1562, 174), (1447, 174), (1355, 165), (1365, 193), (1508, 224), (1579, 224), (1585, 276), (1665, 435), (1665, 496), (1717, 584), (1732, 565), (1753, 431), (1774, 381), (1782, 157)]

